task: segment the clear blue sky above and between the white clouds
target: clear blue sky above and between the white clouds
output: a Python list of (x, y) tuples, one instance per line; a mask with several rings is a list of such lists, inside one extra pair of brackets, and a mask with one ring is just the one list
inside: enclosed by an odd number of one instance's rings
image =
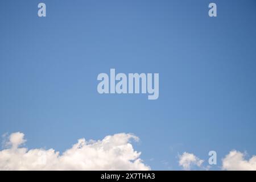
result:
[[(47, 17), (37, 16), (38, 3)], [(210, 2), (217, 17), (208, 16)], [(152, 169), (185, 151), (218, 169), (256, 154), (256, 2), (1, 1), (0, 134), (64, 151), (79, 138), (134, 133)], [(98, 94), (97, 75), (159, 73), (159, 98)]]

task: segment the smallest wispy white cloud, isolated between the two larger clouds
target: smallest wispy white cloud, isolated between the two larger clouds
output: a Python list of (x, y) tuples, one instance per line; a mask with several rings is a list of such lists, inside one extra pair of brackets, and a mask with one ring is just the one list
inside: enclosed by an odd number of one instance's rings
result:
[(179, 166), (183, 167), (184, 170), (190, 170), (192, 166), (201, 167), (204, 160), (197, 158), (194, 154), (184, 152), (179, 155)]

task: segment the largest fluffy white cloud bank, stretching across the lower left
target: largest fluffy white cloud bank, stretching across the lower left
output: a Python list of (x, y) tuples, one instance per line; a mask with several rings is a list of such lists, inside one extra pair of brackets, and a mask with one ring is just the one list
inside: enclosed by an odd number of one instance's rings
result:
[(26, 140), (23, 133), (10, 135), (0, 151), (0, 170), (150, 170), (134, 150), (132, 134), (109, 135), (102, 140), (79, 139), (62, 155), (54, 149), (20, 147)]

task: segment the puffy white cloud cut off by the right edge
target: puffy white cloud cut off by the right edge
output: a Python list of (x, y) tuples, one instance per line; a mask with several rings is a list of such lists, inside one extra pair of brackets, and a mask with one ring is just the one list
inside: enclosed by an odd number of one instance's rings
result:
[(228, 155), (222, 159), (222, 169), (233, 171), (255, 171), (256, 156), (252, 156), (249, 160), (245, 159), (245, 153), (240, 151), (230, 151)]

